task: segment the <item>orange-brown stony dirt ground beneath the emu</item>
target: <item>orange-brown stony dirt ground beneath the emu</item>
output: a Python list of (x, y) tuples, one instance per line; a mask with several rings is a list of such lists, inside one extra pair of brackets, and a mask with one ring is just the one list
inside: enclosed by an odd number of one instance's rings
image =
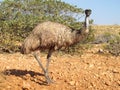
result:
[[(0, 54), (0, 90), (120, 90), (120, 57), (99, 50), (95, 45), (82, 56), (54, 53), (51, 85), (31, 54)], [(45, 65), (46, 54), (40, 56)]]

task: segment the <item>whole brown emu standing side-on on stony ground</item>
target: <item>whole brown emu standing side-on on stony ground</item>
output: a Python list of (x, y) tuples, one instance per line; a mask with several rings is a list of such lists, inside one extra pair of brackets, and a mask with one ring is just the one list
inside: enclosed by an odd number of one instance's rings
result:
[(89, 33), (89, 16), (91, 14), (90, 9), (85, 10), (85, 23), (82, 30), (74, 30), (60, 23), (51, 21), (38, 24), (31, 34), (24, 40), (21, 46), (22, 54), (29, 54), (36, 50), (48, 50), (46, 68), (41, 64), (40, 58), (37, 53), (34, 52), (34, 57), (37, 60), (39, 66), (44, 72), (46, 83), (52, 83), (51, 78), (48, 75), (48, 67), (50, 63), (50, 57), (52, 52), (62, 47), (68, 47), (76, 44), (86, 37)]

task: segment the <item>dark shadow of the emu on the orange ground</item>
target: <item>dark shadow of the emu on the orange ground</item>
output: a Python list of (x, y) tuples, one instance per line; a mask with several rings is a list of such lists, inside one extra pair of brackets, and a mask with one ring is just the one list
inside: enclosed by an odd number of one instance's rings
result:
[(30, 79), (31, 81), (38, 83), (40, 85), (47, 85), (46, 81), (43, 81), (41, 79), (38, 79), (37, 81), (34, 80), (35, 76), (44, 76), (44, 74), (38, 73), (38, 72), (34, 72), (34, 71), (27, 71), (27, 70), (18, 70), (18, 69), (7, 69), (4, 72), (4, 75), (10, 76), (10, 75), (14, 75), (16, 77), (20, 77), (22, 79), (25, 79), (24, 77), (26, 75), (30, 75)]

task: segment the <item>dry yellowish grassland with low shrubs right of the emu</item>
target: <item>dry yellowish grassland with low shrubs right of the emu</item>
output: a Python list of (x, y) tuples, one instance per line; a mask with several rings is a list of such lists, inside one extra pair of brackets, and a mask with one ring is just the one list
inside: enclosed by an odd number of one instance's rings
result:
[(94, 26), (96, 29), (95, 44), (106, 43), (104, 46), (112, 55), (120, 55), (120, 26)]

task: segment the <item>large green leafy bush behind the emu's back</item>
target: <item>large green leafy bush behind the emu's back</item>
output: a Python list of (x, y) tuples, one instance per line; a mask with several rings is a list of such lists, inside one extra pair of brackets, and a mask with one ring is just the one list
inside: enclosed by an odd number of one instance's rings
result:
[[(5, 0), (0, 5), (0, 51), (19, 51), (20, 42), (43, 21), (50, 20), (80, 29), (82, 22), (78, 22), (78, 18), (83, 12), (83, 9), (61, 1)], [(91, 38), (91, 34), (89, 36)]]

